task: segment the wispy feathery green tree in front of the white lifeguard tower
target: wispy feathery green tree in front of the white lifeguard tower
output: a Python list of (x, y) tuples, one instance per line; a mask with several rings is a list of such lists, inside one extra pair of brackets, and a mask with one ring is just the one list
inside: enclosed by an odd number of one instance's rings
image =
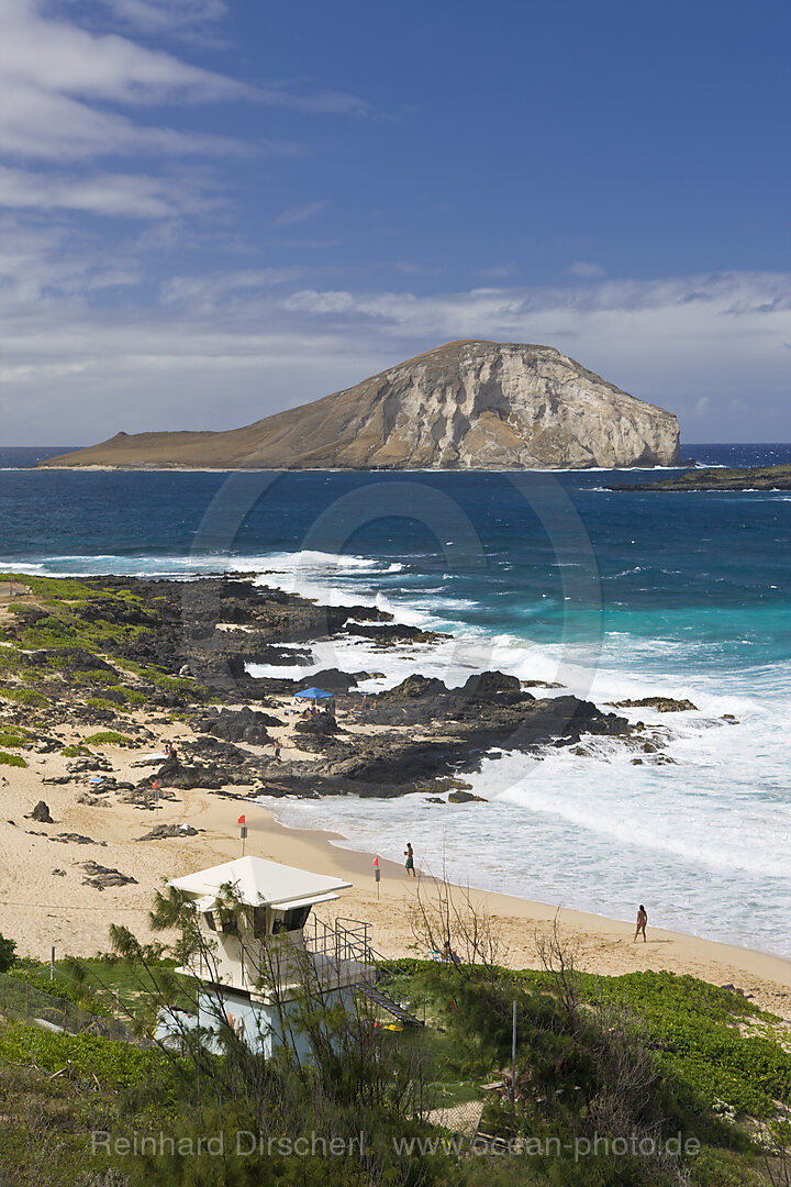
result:
[[(110, 929), (119, 958), (140, 975), (138, 1004), (145, 1003), (146, 1028), (151, 1033), (153, 1020), (170, 1013), (178, 1034), (177, 1045), (164, 1048), (174, 1098), (170, 1132), (185, 1138), (186, 1148), (190, 1138), (227, 1135), (222, 1157), (202, 1163), (199, 1178), (191, 1156), (141, 1153), (147, 1187), (457, 1183), (454, 1159), (429, 1154), (415, 1167), (397, 1145), (433, 1132), (423, 1119), (434, 1102), (426, 1099), (421, 1046), (402, 1046), (377, 1026), (363, 995), (336, 999), (332, 978), (320, 975), (326, 957), (313, 959), (288, 933), (268, 934), (262, 944), (254, 908), (238, 900), (235, 887), (221, 887), (217, 900), (223, 932), (238, 938), (245, 977), (279, 1011), (274, 1026), (281, 1041), (269, 1058), (260, 1049), (263, 1042), (248, 1043), (227, 1013), (217, 944), (198, 926), (193, 904), (180, 891), (171, 887), (159, 894), (151, 916), (153, 929), (168, 934), (170, 944), (143, 945), (125, 927)], [(174, 975), (170, 964), (162, 967), (161, 957), (181, 969), (202, 969), (202, 978)], [(177, 999), (194, 1002), (198, 994), (200, 1029), (172, 1009)], [(250, 1154), (237, 1151), (238, 1134), (255, 1136)], [(311, 1151), (334, 1141), (337, 1156), (305, 1156), (298, 1138)]]

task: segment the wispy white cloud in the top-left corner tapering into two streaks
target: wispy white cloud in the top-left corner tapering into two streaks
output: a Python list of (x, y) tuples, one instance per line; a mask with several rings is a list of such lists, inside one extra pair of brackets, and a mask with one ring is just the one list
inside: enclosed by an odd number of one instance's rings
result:
[[(0, 152), (36, 160), (79, 160), (128, 153), (205, 154), (298, 151), (293, 142), (262, 138), (243, 145), (230, 137), (180, 132), (102, 104), (149, 107), (157, 103), (245, 101), (306, 113), (362, 114), (363, 100), (323, 91), (294, 95), (285, 87), (253, 87), (191, 65), (172, 53), (152, 50), (116, 33), (97, 33), (49, 15), (43, 0), (0, 2)], [(165, 4), (126, 6), (128, 12), (159, 9)], [(181, 13), (190, 6), (183, 0)], [(210, 9), (203, 5), (203, 9)]]

